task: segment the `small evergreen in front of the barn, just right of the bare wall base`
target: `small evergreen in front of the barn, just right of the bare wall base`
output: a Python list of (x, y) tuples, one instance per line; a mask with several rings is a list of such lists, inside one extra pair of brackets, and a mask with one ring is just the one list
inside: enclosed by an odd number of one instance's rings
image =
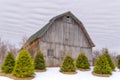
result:
[(76, 67), (74, 60), (70, 56), (66, 56), (60, 68), (60, 72), (75, 72)]

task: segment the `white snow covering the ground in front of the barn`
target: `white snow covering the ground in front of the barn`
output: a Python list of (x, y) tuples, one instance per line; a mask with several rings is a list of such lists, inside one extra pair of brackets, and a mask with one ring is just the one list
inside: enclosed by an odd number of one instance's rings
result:
[[(59, 68), (47, 68), (46, 72), (36, 72), (33, 80), (120, 80), (120, 71), (116, 69), (110, 77), (96, 77), (93, 76), (90, 71), (82, 72), (77, 70), (77, 74), (62, 74), (59, 72)], [(6, 77), (0, 77), (0, 80), (12, 80)]]

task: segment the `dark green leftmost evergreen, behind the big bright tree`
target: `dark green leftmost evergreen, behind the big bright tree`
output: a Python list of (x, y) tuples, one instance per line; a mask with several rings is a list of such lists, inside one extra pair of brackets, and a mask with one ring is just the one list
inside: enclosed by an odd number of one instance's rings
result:
[(12, 51), (10, 51), (6, 55), (5, 60), (2, 64), (2, 67), (1, 67), (2, 72), (11, 73), (13, 71), (14, 65), (15, 65), (15, 58)]

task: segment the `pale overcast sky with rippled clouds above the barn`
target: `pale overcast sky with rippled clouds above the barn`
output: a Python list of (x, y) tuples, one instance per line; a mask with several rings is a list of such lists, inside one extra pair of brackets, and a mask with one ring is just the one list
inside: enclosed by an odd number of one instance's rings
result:
[(0, 0), (0, 37), (20, 47), (24, 35), (66, 11), (82, 21), (95, 49), (120, 53), (120, 0)]

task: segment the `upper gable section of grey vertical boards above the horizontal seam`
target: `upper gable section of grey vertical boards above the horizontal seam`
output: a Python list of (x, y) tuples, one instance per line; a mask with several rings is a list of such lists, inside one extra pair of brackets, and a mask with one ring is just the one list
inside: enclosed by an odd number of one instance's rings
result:
[(43, 36), (42, 40), (65, 45), (90, 47), (79, 25), (73, 20), (71, 23), (67, 23), (63, 19), (64, 18), (56, 20)]

